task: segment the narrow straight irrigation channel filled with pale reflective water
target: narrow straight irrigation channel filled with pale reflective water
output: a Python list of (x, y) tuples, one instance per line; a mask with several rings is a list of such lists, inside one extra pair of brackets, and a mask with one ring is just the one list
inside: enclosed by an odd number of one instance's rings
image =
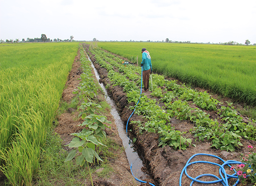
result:
[[(97, 80), (99, 82), (100, 77), (99, 77), (98, 71), (96, 70), (95, 66), (93, 65), (93, 62), (91, 61), (88, 54), (87, 54), (87, 56), (88, 56), (89, 61), (91, 62), (91, 66), (94, 70), (95, 77), (97, 78)], [(134, 176), (136, 178), (140, 178), (142, 180), (145, 178), (148, 178), (149, 175), (142, 171), (142, 167), (144, 167), (143, 162), (142, 162), (142, 156), (137, 151), (132, 140), (126, 134), (125, 125), (122, 122), (122, 120), (117, 112), (114, 101), (108, 96), (108, 93), (107, 93), (106, 88), (103, 85), (103, 83), (99, 82), (99, 85), (101, 86), (103, 92), (105, 93), (105, 98), (106, 98), (107, 103), (111, 106), (110, 113), (114, 117), (115, 124), (118, 129), (119, 137), (122, 139), (122, 143), (123, 143), (123, 146), (126, 151), (126, 156), (127, 156), (128, 162), (129, 162), (130, 166), (132, 164), (132, 172), (133, 172)]]

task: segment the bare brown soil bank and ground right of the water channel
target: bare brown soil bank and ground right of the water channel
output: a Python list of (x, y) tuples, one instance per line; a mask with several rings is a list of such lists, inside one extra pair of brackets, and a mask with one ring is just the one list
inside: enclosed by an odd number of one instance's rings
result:
[[(119, 115), (121, 116), (122, 121), (126, 124), (129, 116), (132, 113), (132, 110), (129, 109), (130, 105), (127, 102), (126, 93), (122, 91), (123, 88), (112, 85), (112, 82), (107, 77), (107, 70), (105, 68), (102, 68), (98, 65), (97, 62), (95, 62), (94, 56), (89, 52), (89, 48), (87, 48), (87, 53), (91, 57), (91, 60), (93, 61), (95, 68), (98, 70), (98, 74), (100, 75), (101, 81), (104, 83), (104, 85), (108, 85), (108, 94), (115, 101), (116, 105), (118, 106)], [(199, 88), (198, 90), (205, 91)], [(151, 97), (150, 92), (147, 92), (146, 95), (147, 97)], [(156, 97), (151, 98), (158, 100), (158, 98)], [(130, 104), (135, 105), (135, 103)], [(219, 105), (219, 107), (220, 106), (222, 105)], [(211, 115), (211, 118), (217, 118), (217, 113), (215, 111), (204, 111), (209, 113)], [(142, 122), (144, 121), (142, 116), (138, 116), (136, 114), (134, 114), (130, 118), (130, 121), (131, 120), (140, 120)], [(244, 119), (244, 121), (246, 122), (246, 119)], [(240, 153), (248, 152), (248, 145), (252, 145), (253, 147), (255, 147), (256, 145), (256, 141), (241, 139), (241, 143), (244, 146), (236, 149), (235, 152), (221, 151), (211, 148), (211, 144), (207, 141), (199, 142), (198, 140), (196, 140), (194, 136), (192, 136), (191, 133), (189, 132), (189, 130), (194, 127), (194, 125), (190, 121), (180, 121), (175, 118), (172, 118), (171, 125), (174, 126), (176, 130), (179, 130), (181, 132), (187, 132), (186, 137), (192, 139), (192, 144), (195, 144), (195, 146), (191, 145), (187, 148), (187, 150), (174, 150), (169, 146), (165, 146), (163, 148), (158, 147), (158, 134), (144, 132), (142, 135), (140, 135), (138, 133), (138, 128), (136, 124), (129, 124), (128, 126), (128, 129), (132, 129), (132, 133), (130, 133), (130, 136), (135, 136), (137, 138), (135, 145), (138, 147), (138, 149), (141, 150), (141, 153), (144, 156), (145, 164), (147, 165), (147, 168), (150, 172), (150, 175), (154, 179), (154, 184), (156, 186), (179, 186), (179, 177), (181, 171), (185, 164), (187, 163), (187, 160), (191, 158), (192, 155), (195, 155), (197, 153), (206, 153), (219, 156), (225, 161), (240, 161)], [(253, 151), (255, 151), (255, 148), (253, 149)], [(219, 159), (210, 156), (196, 156), (191, 161), (199, 160), (222, 164), (222, 162)], [(219, 167), (211, 166), (210, 164), (195, 164), (187, 168), (187, 173), (193, 178), (200, 174), (215, 174), (220, 178)], [(227, 173), (233, 174), (233, 172), (228, 171)], [(212, 180), (215, 179), (209, 177), (203, 179), (203, 181)], [(233, 185), (232, 183), (234, 182), (236, 182), (235, 179), (229, 179), (230, 185)], [(182, 186), (189, 186), (190, 183), (191, 179), (187, 178), (187, 176), (184, 174), (182, 178)], [(197, 182), (194, 182), (193, 184), (193, 186), (203, 185), (205, 184)], [(211, 185), (220, 186), (222, 184), (215, 183)]]

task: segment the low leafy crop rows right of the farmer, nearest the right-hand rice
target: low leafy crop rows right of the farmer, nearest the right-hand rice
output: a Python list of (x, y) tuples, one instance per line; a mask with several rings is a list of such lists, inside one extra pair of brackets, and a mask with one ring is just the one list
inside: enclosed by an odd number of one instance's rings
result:
[[(212, 146), (222, 150), (234, 151), (235, 147), (242, 145), (240, 138), (255, 140), (255, 127), (252, 122), (245, 124), (243, 118), (238, 115), (236, 110), (229, 107), (217, 109), (219, 101), (212, 99), (206, 92), (196, 92), (186, 86), (177, 86), (175, 81), (166, 81), (161, 77), (157, 81), (160, 86), (166, 86), (167, 91), (160, 99), (165, 102), (167, 112), (171, 117), (175, 116), (180, 120), (191, 120), (196, 126), (191, 132), (195, 133), (199, 140), (211, 140)], [(166, 91), (166, 90), (165, 90)], [(191, 108), (187, 101), (193, 101), (193, 104), (206, 110), (217, 110), (222, 123), (209, 118), (209, 114), (198, 108)]]

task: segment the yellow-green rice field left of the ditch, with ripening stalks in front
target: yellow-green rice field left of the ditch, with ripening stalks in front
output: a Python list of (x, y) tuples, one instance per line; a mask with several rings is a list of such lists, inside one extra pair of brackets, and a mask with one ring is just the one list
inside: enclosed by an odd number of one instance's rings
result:
[(0, 170), (32, 185), (78, 43), (0, 45)]

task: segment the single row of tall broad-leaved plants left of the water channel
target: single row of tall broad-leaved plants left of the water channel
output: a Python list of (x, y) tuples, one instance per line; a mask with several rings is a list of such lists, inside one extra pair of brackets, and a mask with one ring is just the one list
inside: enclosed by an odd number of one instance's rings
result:
[(65, 162), (70, 161), (77, 156), (77, 164), (81, 167), (87, 163), (91, 184), (93, 186), (89, 163), (95, 164), (96, 159), (97, 163), (99, 163), (99, 161), (103, 161), (100, 158), (99, 153), (102, 147), (105, 146), (102, 143), (102, 140), (106, 138), (106, 132), (104, 129), (108, 127), (106, 124), (110, 124), (110, 121), (106, 119), (106, 116), (95, 114), (95, 112), (100, 114), (98, 109), (102, 107), (94, 101), (97, 96), (98, 89), (94, 83), (94, 78), (91, 73), (90, 62), (85, 57), (83, 51), (81, 52), (81, 64), (83, 69), (83, 74), (81, 74), (81, 83), (74, 93), (78, 94), (78, 97), (84, 101), (81, 103), (79, 108), (81, 110), (79, 116), (84, 120), (80, 126), (85, 126), (85, 128), (79, 133), (71, 134), (76, 137), (74, 137), (67, 146), (77, 149), (73, 149), (69, 152)]

